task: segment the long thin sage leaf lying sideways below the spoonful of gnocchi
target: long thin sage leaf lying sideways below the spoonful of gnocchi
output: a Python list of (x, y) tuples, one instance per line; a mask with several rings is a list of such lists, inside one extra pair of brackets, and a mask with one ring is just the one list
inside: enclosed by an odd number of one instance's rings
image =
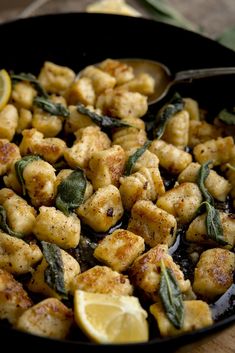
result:
[(111, 118), (106, 115), (99, 115), (92, 112), (90, 109), (86, 108), (83, 104), (77, 104), (77, 111), (81, 114), (89, 116), (89, 118), (97, 125), (103, 128), (113, 128), (113, 127), (127, 127), (130, 126), (124, 123), (120, 119)]

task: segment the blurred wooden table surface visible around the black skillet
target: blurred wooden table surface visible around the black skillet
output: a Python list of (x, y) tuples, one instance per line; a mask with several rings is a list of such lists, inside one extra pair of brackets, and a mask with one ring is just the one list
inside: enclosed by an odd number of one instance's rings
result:
[[(216, 38), (227, 27), (235, 26), (235, 0), (166, 0), (179, 9), (189, 20), (203, 28), (203, 33)], [(9, 0), (0, 0), (0, 20), (15, 18), (21, 12), (28, 0), (14, 0), (15, 7), (8, 6)], [(51, 0), (37, 13), (84, 11), (87, 4), (93, 0)], [(146, 15), (143, 8), (137, 5), (137, 0), (127, 1), (134, 4)], [(10, 1), (11, 3), (11, 1)], [(215, 334), (209, 339), (200, 340), (192, 345), (184, 346), (175, 353), (234, 353), (235, 326)]]

